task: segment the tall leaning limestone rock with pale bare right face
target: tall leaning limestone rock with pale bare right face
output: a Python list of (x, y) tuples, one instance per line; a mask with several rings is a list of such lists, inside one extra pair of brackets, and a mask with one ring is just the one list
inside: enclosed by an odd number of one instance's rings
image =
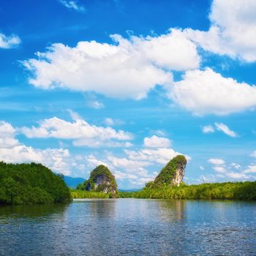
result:
[(178, 155), (162, 168), (159, 175), (147, 187), (161, 187), (163, 184), (179, 186), (183, 181), (187, 160), (184, 156)]

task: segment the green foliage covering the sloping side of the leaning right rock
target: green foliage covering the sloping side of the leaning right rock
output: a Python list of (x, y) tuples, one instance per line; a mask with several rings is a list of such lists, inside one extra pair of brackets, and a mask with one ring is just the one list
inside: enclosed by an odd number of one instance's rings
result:
[(173, 178), (176, 176), (176, 170), (187, 165), (187, 160), (184, 156), (178, 155), (173, 157), (165, 167), (162, 168), (159, 175), (155, 178), (154, 181), (148, 182), (146, 187), (157, 188), (161, 187), (164, 184), (171, 184)]

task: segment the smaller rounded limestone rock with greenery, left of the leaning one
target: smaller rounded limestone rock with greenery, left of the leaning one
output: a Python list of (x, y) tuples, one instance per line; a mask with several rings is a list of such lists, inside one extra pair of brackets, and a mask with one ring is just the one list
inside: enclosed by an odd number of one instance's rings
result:
[(84, 189), (111, 193), (112, 197), (116, 197), (117, 184), (115, 176), (113, 176), (108, 167), (99, 165), (91, 171), (90, 178), (84, 183)]

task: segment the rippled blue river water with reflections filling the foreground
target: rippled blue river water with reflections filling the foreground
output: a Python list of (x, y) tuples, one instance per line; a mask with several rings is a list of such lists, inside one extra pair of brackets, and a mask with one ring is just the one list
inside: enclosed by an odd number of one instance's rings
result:
[(0, 206), (0, 255), (256, 255), (256, 203), (118, 199)]

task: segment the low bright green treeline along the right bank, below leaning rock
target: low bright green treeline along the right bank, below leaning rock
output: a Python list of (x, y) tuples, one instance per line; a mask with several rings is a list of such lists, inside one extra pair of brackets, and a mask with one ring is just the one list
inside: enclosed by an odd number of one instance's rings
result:
[(121, 197), (187, 199), (187, 200), (256, 200), (256, 181), (225, 182), (181, 187), (143, 188), (139, 192), (124, 192)]

